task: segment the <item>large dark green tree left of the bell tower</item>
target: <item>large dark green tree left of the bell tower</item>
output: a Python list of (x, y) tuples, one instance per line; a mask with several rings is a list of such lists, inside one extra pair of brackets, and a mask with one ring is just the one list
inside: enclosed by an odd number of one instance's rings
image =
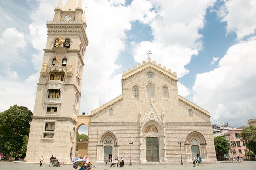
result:
[(0, 150), (2, 153), (19, 152), (25, 135), (29, 135), (32, 112), (26, 107), (13, 105), (0, 113)]

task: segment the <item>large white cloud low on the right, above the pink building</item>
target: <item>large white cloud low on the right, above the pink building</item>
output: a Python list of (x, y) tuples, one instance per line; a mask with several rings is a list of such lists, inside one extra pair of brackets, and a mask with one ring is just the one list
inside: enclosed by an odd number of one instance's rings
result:
[(198, 74), (193, 100), (209, 108), (211, 120), (242, 123), (255, 118), (256, 37), (233, 45), (219, 61), (219, 68)]

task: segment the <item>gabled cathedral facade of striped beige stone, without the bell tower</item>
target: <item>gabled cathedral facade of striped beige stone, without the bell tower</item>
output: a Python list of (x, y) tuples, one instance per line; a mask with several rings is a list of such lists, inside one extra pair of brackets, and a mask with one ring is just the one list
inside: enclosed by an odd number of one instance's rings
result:
[(150, 58), (124, 71), (122, 94), (91, 113), (88, 157), (181, 163), (182, 156), (191, 163), (201, 155), (215, 162), (209, 112), (178, 95), (177, 81), (176, 72)]

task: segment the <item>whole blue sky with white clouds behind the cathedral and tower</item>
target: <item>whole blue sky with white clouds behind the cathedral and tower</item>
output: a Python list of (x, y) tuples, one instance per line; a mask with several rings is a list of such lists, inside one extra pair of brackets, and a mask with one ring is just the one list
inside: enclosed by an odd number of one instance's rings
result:
[[(46, 21), (58, 2), (0, 1), (0, 112), (14, 104), (33, 112)], [(80, 114), (121, 95), (122, 71), (147, 61), (150, 50), (151, 61), (177, 72), (179, 95), (209, 111), (212, 123), (238, 127), (255, 118), (254, 0), (82, 0), (82, 6), (89, 45)]]

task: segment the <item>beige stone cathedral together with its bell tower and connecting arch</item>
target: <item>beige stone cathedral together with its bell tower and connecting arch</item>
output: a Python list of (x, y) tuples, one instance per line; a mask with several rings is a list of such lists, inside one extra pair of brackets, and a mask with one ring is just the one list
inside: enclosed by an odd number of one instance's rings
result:
[(209, 112), (178, 95), (176, 72), (150, 58), (123, 72), (120, 96), (91, 115), (78, 115), (88, 45), (81, 0), (68, 0), (63, 9), (60, 0), (46, 25), (26, 161), (53, 154), (69, 163), (78, 156), (81, 125), (89, 128), (89, 142), (81, 146), (88, 153), (79, 154), (91, 162), (103, 163), (112, 156), (128, 163), (131, 155), (133, 163), (180, 163), (181, 156), (191, 163), (192, 155), (217, 161)]

